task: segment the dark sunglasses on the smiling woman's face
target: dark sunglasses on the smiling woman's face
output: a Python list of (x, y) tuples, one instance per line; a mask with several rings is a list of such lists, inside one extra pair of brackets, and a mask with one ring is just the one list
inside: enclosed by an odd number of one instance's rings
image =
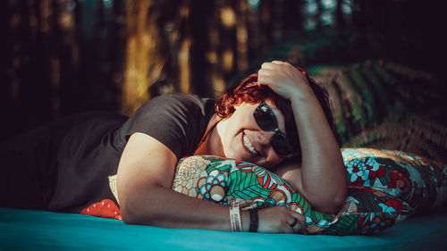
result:
[(274, 137), (270, 141), (270, 145), (274, 148), (276, 155), (282, 158), (291, 158), (295, 155), (291, 142), (278, 129), (278, 121), (276, 116), (274, 116), (274, 112), (264, 101), (257, 105), (253, 117), (255, 117), (255, 121), (260, 129), (274, 131)]

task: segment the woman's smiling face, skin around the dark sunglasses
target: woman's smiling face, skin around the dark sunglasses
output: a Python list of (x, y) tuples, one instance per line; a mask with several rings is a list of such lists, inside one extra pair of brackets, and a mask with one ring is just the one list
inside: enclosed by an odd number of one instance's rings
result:
[[(278, 121), (278, 128), (285, 134), (283, 113), (273, 102), (266, 100)], [(221, 138), (223, 154), (227, 158), (256, 163), (262, 167), (273, 167), (283, 161), (270, 144), (274, 131), (259, 128), (253, 112), (259, 103), (251, 105), (242, 103), (234, 107), (236, 111), (229, 118), (217, 123), (217, 131)]]

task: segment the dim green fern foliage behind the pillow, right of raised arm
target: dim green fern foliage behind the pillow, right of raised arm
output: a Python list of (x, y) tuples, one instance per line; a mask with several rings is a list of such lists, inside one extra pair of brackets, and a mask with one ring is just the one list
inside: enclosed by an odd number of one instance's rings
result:
[(342, 146), (389, 148), (447, 162), (445, 93), (430, 74), (383, 61), (309, 72), (330, 93)]

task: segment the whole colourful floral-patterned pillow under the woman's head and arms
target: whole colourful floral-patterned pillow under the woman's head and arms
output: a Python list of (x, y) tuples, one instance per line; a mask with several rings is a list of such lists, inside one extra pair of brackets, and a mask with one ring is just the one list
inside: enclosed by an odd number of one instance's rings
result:
[(183, 158), (173, 190), (243, 209), (284, 205), (306, 215), (310, 234), (367, 234), (406, 219), (416, 208), (445, 200), (447, 167), (402, 152), (367, 148), (342, 149), (349, 193), (337, 214), (312, 210), (286, 181), (252, 163), (215, 156)]

